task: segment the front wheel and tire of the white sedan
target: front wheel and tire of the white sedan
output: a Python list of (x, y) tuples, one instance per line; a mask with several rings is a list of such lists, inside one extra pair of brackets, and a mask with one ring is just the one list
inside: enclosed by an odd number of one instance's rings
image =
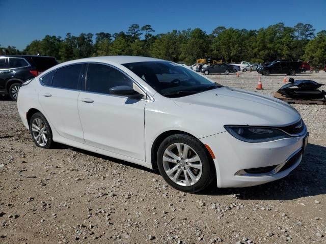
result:
[(183, 192), (204, 190), (214, 179), (214, 167), (205, 146), (188, 135), (171, 135), (157, 151), (157, 166), (173, 188)]

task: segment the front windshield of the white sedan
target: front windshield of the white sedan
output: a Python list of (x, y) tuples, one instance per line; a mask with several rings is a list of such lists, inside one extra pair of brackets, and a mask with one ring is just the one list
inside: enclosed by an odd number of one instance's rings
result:
[(171, 62), (139, 62), (123, 64), (156, 92), (165, 97), (184, 97), (222, 87), (205, 77)]

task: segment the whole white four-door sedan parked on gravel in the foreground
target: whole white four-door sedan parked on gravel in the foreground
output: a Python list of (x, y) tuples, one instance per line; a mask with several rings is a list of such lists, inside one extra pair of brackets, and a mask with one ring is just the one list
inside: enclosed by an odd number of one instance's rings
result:
[(50, 68), (19, 90), (37, 146), (60, 142), (150, 169), (197, 192), (280, 179), (308, 132), (290, 105), (233, 89), (161, 59), (107, 56)]

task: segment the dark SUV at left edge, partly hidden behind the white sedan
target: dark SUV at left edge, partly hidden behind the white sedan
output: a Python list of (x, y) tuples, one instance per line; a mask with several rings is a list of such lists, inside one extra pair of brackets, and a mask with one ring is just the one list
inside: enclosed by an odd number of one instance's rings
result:
[(55, 57), (36, 55), (0, 55), (0, 95), (17, 101), (22, 83), (57, 65)]

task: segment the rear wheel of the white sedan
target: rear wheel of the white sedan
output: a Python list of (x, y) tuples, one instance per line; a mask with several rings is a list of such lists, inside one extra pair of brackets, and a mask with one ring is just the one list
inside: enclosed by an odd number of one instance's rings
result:
[(34, 113), (30, 119), (30, 131), (34, 143), (42, 148), (50, 148), (53, 144), (52, 131), (44, 115)]

